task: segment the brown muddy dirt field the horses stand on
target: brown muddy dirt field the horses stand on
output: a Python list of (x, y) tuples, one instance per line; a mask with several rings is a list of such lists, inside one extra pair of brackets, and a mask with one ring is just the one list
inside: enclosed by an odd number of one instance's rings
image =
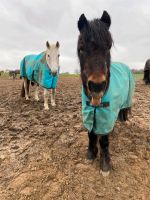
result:
[(55, 108), (20, 98), (20, 80), (0, 79), (0, 200), (149, 200), (150, 87), (137, 82), (132, 118), (110, 136), (113, 170), (86, 159), (80, 80), (59, 80)]

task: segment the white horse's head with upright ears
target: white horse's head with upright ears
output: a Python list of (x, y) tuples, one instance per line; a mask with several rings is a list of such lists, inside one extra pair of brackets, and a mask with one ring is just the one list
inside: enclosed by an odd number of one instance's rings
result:
[(59, 46), (59, 42), (56, 42), (56, 44), (46, 42), (46, 62), (53, 76), (56, 76), (59, 67)]

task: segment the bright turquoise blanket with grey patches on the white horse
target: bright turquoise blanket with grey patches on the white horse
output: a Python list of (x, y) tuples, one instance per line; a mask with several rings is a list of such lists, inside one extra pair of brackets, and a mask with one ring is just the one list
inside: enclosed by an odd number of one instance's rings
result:
[(55, 89), (57, 87), (58, 75), (59, 68), (57, 75), (52, 75), (44, 52), (38, 55), (25, 56), (20, 63), (20, 77), (36, 82), (46, 89)]

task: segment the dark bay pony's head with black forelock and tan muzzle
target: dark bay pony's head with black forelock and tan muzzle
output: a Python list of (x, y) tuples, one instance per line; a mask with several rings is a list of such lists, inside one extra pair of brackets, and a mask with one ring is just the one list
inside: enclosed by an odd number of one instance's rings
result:
[(109, 32), (110, 24), (111, 19), (106, 11), (100, 19), (88, 21), (82, 14), (78, 21), (80, 35), (77, 52), (81, 78), (93, 106), (100, 104), (109, 84), (110, 49), (113, 42)]

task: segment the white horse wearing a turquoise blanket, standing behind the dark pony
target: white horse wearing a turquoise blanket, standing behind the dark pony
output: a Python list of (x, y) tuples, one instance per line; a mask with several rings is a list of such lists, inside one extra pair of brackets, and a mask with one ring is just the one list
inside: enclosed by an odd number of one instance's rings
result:
[(59, 42), (46, 42), (46, 51), (38, 55), (28, 55), (20, 64), (20, 76), (23, 78), (21, 97), (29, 99), (30, 82), (35, 85), (35, 100), (39, 101), (39, 85), (44, 88), (44, 109), (49, 110), (49, 89), (52, 89), (51, 105), (55, 106), (55, 91), (59, 74)]

